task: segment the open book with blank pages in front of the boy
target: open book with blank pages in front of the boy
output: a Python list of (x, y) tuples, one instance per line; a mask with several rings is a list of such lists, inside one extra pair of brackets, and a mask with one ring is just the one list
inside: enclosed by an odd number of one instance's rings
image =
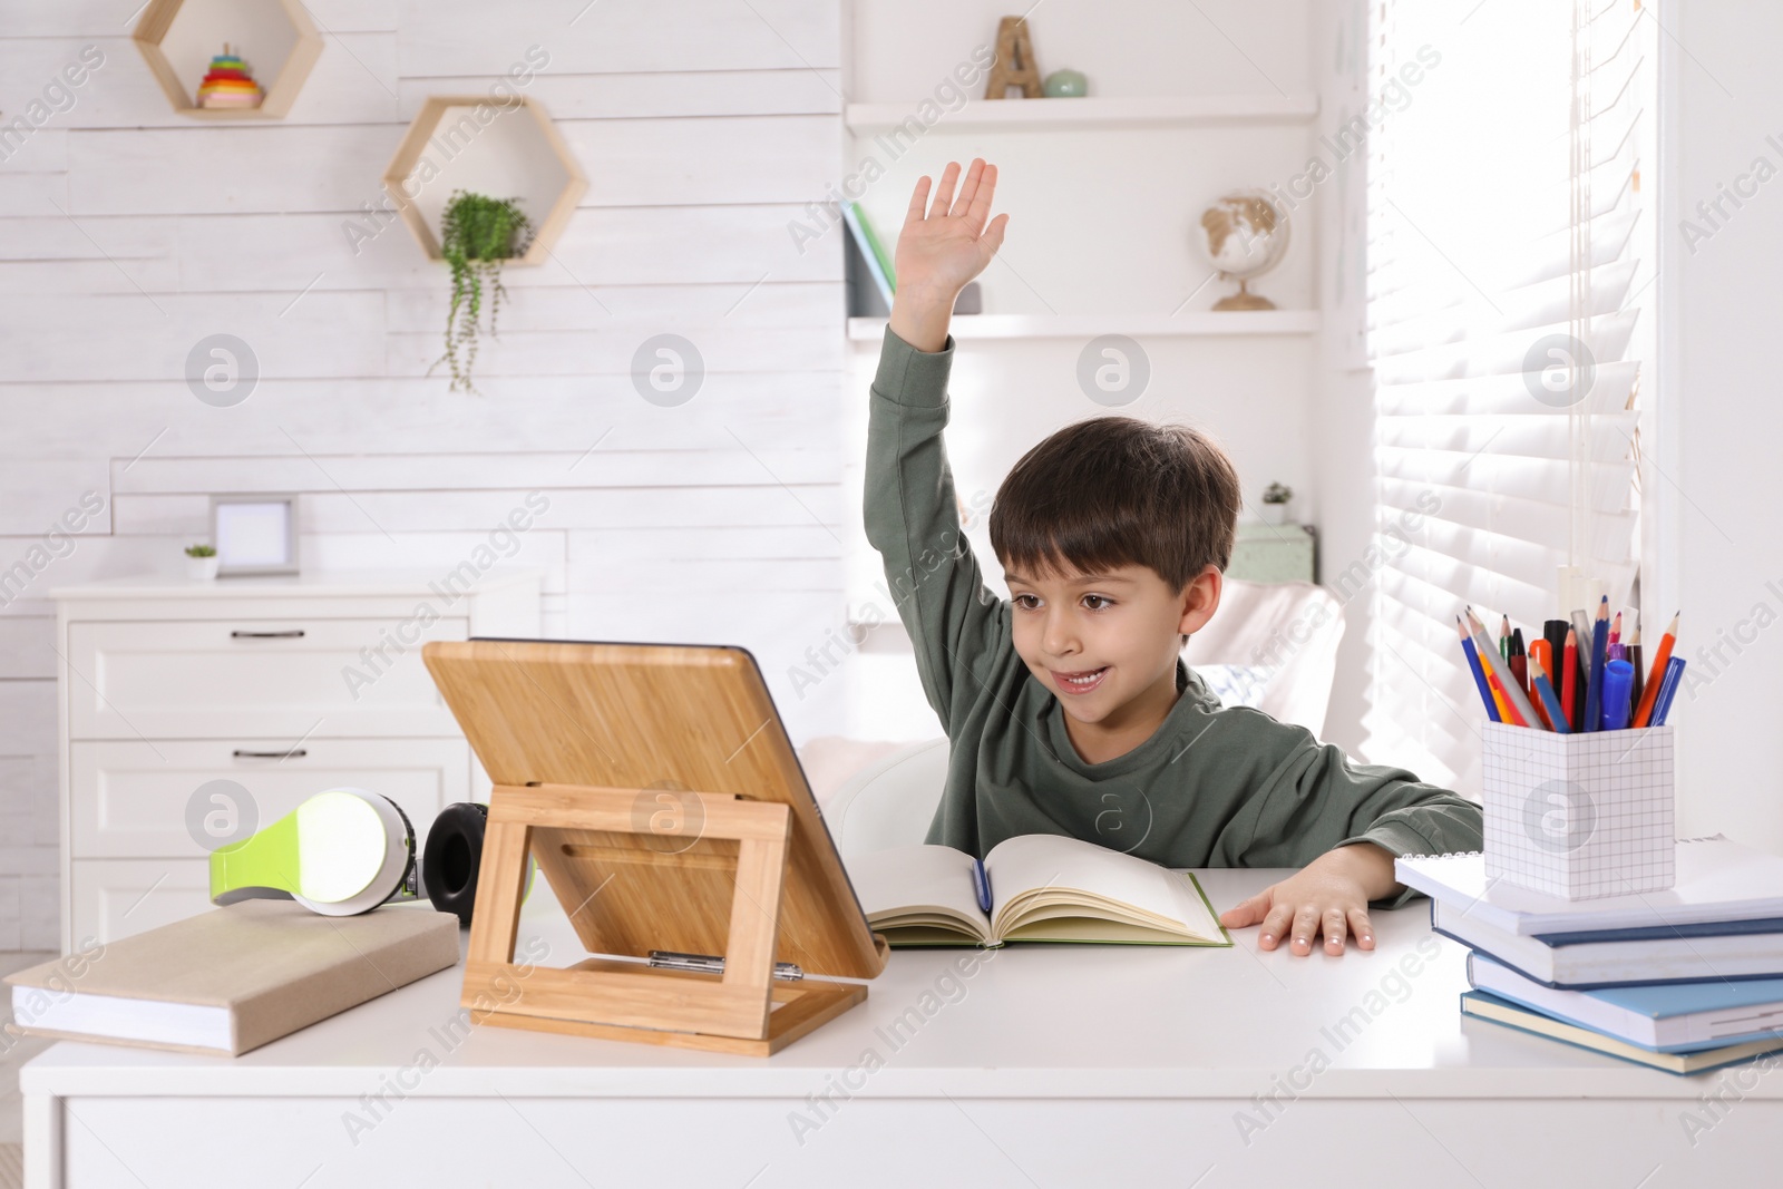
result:
[(1020, 834), (991, 847), (990, 913), (974, 868), (952, 847), (893, 847), (849, 859), (849, 879), (867, 923), (893, 947), (1232, 945), (1195, 875), (1079, 838)]

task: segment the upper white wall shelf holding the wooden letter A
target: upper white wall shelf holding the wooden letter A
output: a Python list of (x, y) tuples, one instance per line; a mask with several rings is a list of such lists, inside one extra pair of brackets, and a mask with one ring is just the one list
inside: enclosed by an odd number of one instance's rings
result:
[[(908, 103), (849, 103), (845, 119), (854, 132), (884, 132), (916, 114), (924, 100)], [(1319, 96), (1302, 94), (1166, 94), (1095, 96), (1077, 100), (972, 100), (945, 112), (929, 132), (1146, 128), (1250, 123), (1309, 123), (1319, 114)]]

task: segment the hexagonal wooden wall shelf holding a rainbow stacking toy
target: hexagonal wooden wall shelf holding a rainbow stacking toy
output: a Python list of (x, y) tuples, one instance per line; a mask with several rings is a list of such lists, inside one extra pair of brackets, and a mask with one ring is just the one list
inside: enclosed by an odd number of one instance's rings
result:
[[(173, 111), (194, 119), (282, 118), (323, 52), (300, 0), (150, 0), (130, 36)], [(198, 82), (225, 43), (266, 91), (259, 107), (198, 105)]]

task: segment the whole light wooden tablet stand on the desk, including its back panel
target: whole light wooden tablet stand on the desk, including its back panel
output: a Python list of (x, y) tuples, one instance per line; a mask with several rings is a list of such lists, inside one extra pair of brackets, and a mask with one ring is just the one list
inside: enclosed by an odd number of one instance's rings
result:
[[(843, 979), (890, 950), (747, 649), (471, 638), (421, 660), (492, 783), (472, 1020), (765, 1057), (867, 998)], [(574, 966), (514, 964), (528, 854), (587, 950)]]

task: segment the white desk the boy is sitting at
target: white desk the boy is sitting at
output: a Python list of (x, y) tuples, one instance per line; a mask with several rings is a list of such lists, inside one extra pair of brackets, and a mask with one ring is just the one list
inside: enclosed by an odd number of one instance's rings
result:
[[(1198, 875), (1223, 909), (1282, 872)], [(1783, 1077), (1464, 1021), (1464, 950), (1428, 902), (1375, 923), (1376, 950), (1335, 959), (1259, 952), (1255, 929), (1232, 950), (897, 950), (865, 1004), (768, 1059), (453, 1037), (462, 968), (237, 1059), (64, 1041), (21, 1071), (27, 1185), (1774, 1184)], [(528, 936), (544, 964), (581, 957), (549, 895)]]

